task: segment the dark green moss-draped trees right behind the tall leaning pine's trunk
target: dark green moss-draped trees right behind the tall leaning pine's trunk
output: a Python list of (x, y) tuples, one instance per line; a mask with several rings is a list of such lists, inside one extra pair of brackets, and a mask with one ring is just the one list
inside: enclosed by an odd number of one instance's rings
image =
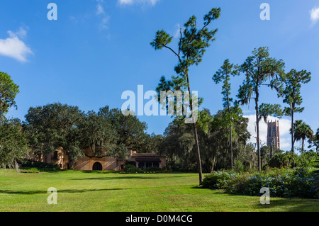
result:
[[(235, 110), (232, 109), (234, 112)], [(216, 169), (229, 169), (229, 128), (223, 118), (228, 114), (228, 108), (211, 115), (208, 109), (199, 113), (198, 142), (201, 149), (201, 162), (203, 172)], [(247, 166), (253, 166), (253, 149), (247, 144), (250, 132), (247, 131), (248, 119), (242, 113), (235, 113), (238, 120), (233, 123), (233, 158), (242, 161)], [(196, 144), (194, 132), (190, 124), (175, 119), (164, 132), (164, 137), (159, 145), (159, 153), (167, 157), (167, 165), (174, 170), (197, 171)], [(244, 158), (242, 158), (244, 157)]]

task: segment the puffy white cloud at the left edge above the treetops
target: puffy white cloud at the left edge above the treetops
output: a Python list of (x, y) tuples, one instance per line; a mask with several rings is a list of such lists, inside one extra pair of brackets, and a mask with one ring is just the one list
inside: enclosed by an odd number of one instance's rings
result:
[(26, 62), (27, 56), (33, 54), (30, 47), (20, 39), (26, 38), (28, 33), (26, 29), (20, 28), (16, 33), (9, 30), (9, 38), (0, 39), (0, 55), (11, 57), (20, 62)]

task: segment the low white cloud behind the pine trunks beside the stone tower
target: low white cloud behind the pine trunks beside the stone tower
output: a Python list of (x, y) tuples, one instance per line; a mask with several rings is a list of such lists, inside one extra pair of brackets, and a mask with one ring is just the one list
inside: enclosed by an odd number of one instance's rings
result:
[[(250, 142), (256, 143), (256, 115), (244, 115), (245, 118), (249, 119), (247, 130), (250, 132), (252, 137), (250, 138)], [(291, 128), (291, 120), (289, 119), (279, 119), (274, 117), (269, 117), (269, 121), (271, 120), (279, 120), (279, 134), (280, 134), (280, 147), (284, 150), (291, 149), (291, 138), (290, 138), (290, 128)], [(259, 122), (259, 139), (267, 144), (267, 123), (264, 123), (264, 120)]]

